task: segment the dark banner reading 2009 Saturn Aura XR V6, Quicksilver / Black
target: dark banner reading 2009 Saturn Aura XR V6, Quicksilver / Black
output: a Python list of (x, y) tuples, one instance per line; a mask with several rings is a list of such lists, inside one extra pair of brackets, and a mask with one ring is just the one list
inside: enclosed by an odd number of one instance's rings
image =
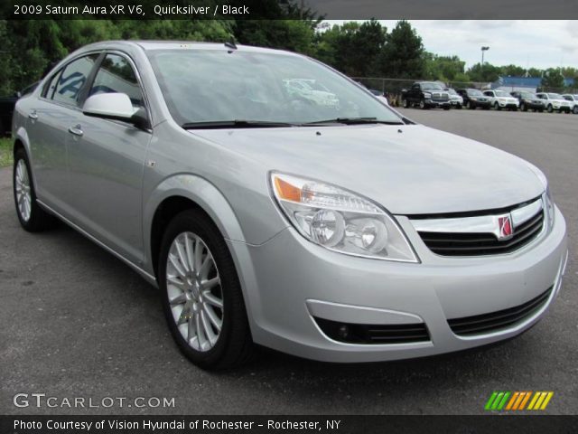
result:
[(551, 20), (577, 19), (577, 6), (575, 0), (10, 0), (0, 5), (0, 18)]

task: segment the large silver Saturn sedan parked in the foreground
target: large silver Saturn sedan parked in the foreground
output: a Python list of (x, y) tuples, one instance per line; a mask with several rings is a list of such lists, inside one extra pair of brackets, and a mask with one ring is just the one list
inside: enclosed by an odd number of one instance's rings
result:
[[(339, 106), (288, 92), (295, 79)], [(566, 227), (542, 172), (295, 53), (92, 44), (18, 101), (13, 136), (23, 228), (56, 216), (158, 286), (203, 368), (254, 344), (331, 362), (490, 344), (561, 287)]]

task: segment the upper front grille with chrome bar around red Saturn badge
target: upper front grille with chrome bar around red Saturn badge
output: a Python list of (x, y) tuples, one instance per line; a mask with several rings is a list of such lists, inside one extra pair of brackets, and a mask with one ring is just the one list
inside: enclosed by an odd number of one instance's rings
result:
[[(498, 219), (511, 216), (511, 236), (500, 239)], [(545, 224), (542, 200), (500, 215), (412, 220), (424, 244), (442, 256), (484, 256), (510, 253), (536, 239)]]

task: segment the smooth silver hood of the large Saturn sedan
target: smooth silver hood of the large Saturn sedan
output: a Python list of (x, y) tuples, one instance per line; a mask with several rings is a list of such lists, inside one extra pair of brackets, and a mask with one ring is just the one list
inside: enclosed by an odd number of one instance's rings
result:
[(339, 185), (396, 214), (489, 210), (544, 192), (542, 181), (517, 156), (420, 125), (213, 129), (191, 134), (229, 147), (267, 170)]

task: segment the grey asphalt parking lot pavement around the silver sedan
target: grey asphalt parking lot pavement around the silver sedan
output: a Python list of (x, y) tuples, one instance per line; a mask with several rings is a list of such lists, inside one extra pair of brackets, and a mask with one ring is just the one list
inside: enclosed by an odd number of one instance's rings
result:
[[(203, 372), (172, 344), (156, 289), (120, 260), (63, 224), (41, 234), (20, 229), (5, 168), (0, 414), (466, 414), (484, 412), (493, 391), (553, 391), (545, 412), (575, 413), (578, 116), (400, 111), (526, 158), (548, 176), (568, 224), (571, 257), (562, 292), (538, 325), (505, 344), (412, 361), (341, 365), (263, 351), (237, 371)], [(36, 408), (32, 399), (15, 407), (16, 393), (45, 393), (57, 407)], [(62, 404), (77, 397), (100, 407)], [(104, 408), (105, 397), (128, 401)], [(174, 398), (174, 407), (129, 407), (136, 397)]]

